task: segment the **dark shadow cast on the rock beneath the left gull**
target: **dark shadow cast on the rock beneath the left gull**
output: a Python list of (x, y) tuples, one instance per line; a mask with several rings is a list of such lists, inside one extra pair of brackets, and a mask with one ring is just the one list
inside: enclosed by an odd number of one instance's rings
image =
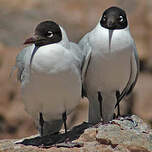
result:
[(16, 144), (23, 144), (23, 145), (32, 145), (32, 146), (38, 146), (43, 148), (49, 148), (49, 147), (82, 147), (82, 143), (75, 143), (72, 142), (73, 140), (78, 139), (81, 134), (84, 133), (84, 130), (91, 127), (92, 125), (86, 122), (83, 122), (82, 124), (73, 127), (70, 131), (65, 133), (58, 133), (53, 135), (47, 135), (43, 137), (34, 137), (31, 139), (24, 139), (22, 142), (18, 142)]

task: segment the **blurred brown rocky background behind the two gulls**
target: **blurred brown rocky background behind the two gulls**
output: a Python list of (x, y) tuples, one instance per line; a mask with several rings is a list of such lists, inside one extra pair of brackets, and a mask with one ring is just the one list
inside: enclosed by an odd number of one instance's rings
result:
[[(20, 85), (9, 73), (23, 42), (43, 20), (62, 25), (69, 39), (78, 40), (97, 24), (107, 7), (127, 11), (131, 33), (141, 61), (141, 73), (133, 94), (121, 103), (123, 114), (136, 114), (152, 122), (152, 1), (151, 0), (0, 0), (0, 139), (36, 134), (24, 111)], [(87, 120), (84, 99), (68, 120), (69, 127)]]

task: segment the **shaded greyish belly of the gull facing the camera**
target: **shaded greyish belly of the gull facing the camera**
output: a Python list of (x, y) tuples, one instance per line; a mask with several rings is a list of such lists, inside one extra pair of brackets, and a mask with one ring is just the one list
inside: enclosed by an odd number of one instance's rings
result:
[(86, 77), (88, 91), (123, 90), (129, 80), (130, 67), (128, 52), (92, 57)]

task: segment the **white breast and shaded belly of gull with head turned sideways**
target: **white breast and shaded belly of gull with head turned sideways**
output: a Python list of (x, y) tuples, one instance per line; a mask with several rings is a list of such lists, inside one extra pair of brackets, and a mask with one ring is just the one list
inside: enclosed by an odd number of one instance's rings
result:
[(26, 110), (37, 119), (61, 119), (80, 102), (81, 78), (74, 56), (64, 47), (51, 44), (40, 47), (33, 57), (30, 80), (23, 90)]

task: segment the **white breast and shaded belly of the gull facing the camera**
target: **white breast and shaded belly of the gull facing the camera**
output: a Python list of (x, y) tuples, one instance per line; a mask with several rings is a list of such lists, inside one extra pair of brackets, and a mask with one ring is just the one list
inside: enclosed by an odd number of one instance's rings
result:
[(89, 33), (89, 42), (92, 57), (86, 76), (87, 88), (93, 91), (123, 90), (129, 80), (133, 53), (129, 30), (109, 33), (108, 29), (95, 28)]

